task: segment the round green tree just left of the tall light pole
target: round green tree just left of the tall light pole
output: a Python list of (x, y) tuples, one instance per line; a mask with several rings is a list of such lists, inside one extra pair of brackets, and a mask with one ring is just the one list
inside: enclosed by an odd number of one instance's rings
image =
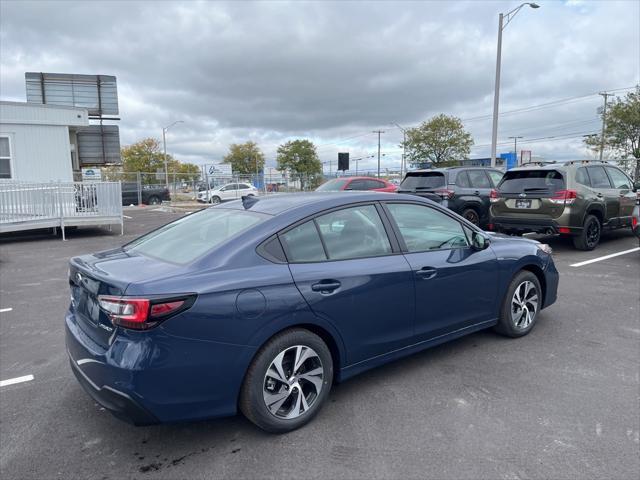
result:
[(407, 130), (401, 143), (410, 163), (431, 162), (445, 166), (467, 158), (473, 145), (471, 134), (457, 117), (437, 115), (415, 128)]

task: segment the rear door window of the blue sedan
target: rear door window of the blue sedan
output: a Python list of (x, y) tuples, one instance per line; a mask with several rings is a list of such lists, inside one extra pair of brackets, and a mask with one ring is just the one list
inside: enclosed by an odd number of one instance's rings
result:
[(329, 260), (391, 253), (389, 237), (376, 207), (345, 208), (316, 218)]

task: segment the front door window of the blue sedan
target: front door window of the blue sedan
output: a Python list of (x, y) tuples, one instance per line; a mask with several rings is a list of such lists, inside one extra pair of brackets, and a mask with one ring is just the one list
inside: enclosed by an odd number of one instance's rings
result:
[(387, 205), (409, 252), (469, 246), (462, 225), (431, 207), (409, 203)]

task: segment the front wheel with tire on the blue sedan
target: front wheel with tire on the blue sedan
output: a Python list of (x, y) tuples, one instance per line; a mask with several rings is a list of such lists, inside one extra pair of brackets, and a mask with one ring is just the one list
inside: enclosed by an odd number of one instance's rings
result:
[(542, 289), (538, 277), (527, 270), (519, 271), (509, 284), (494, 330), (512, 338), (526, 335), (535, 326), (541, 305)]

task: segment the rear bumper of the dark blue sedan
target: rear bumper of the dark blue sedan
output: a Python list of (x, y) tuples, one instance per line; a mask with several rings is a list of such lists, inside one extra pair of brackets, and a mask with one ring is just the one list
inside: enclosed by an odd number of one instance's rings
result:
[(71, 369), (85, 391), (116, 417), (147, 425), (236, 413), (255, 347), (174, 337), (158, 327), (117, 330), (104, 348), (84, 328), (70, 309), (65, 337)]

